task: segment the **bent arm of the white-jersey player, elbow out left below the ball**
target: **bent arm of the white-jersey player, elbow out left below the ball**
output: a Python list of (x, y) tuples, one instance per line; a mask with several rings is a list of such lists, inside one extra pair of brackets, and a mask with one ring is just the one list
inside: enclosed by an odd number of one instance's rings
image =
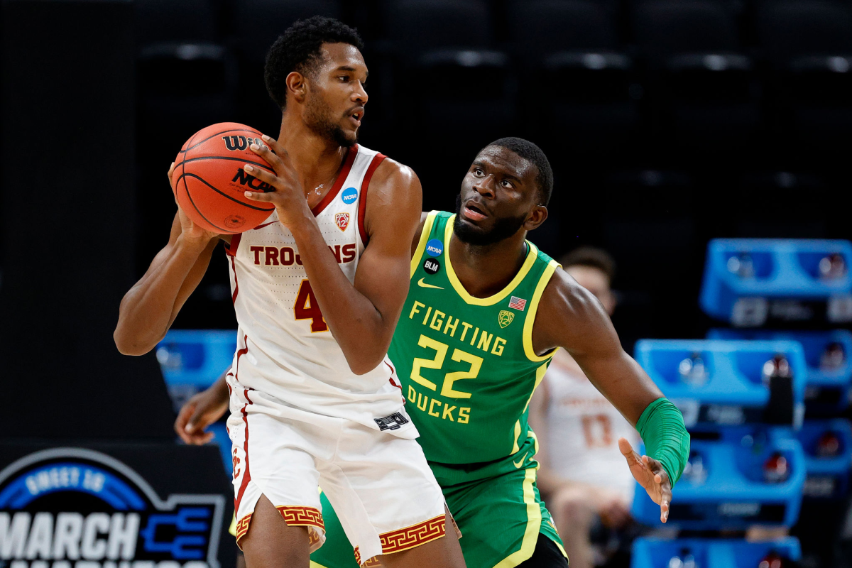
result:
[(187, 236), (186, 223), (180, 212), (175, 215), (169, 243), (121, 301), (112, 337), (125, 355), (147, 353), (163, 339), (207, 271), (218, 239), (194, 230), (197, 234)]

